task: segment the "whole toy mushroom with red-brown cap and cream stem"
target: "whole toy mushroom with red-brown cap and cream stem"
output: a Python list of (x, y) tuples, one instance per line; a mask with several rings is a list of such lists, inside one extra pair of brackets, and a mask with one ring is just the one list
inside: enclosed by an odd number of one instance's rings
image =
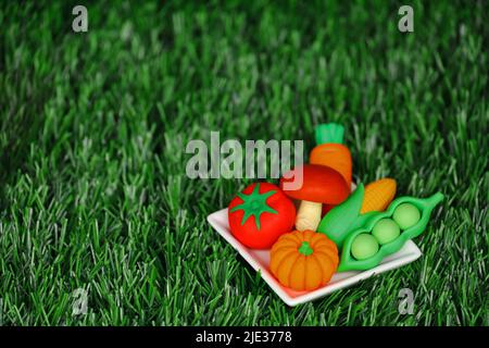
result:
[[(302, 185), (287, 185), (302, 176)], [(300, 200), (296, 215), (296, 229), (316, 231), (321, 222), (322, 204), (339, 204), (350, 194), (347, 182), (334, 169), (318, 164), (304, 164), (285, 173), (280, 179), (280, 188), (290, 198)]]

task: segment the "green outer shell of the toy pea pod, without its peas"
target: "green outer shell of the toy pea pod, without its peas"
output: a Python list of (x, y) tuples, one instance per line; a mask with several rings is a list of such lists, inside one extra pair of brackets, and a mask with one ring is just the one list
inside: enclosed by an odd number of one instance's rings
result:
[[(378, 212), (375, 215), (371, 215), (371, 219), (368, 219), (363, 226), (349, 233), (349, 235), (344, 239), (338, 272), (353, 270), (364, 271), (377, 266), (385, 257), (397, 252), (402, 248), (406, 240), (417, 237), (423, 233), (423, 231), (425, 231), (431, 211), (442, 199), (443, 195), (441, 192), (437, 192), (429, 198), (400, 197), (393, 200), (386, 211)], [(419, 210), (419, 221), (417, 221), (415, 225), (402, 231), (399, 237), (397, 237), (394, 240), (381, 245), (374, 256), (364, 260), (356, 260), (351, 252), (352, 244), (353, 240), (355, 240), (356, 236), (361, 234), (371, 234), (372, 229), (378, 221), (386, 217), (392, 217), (396, 209), (403, 203), (411, 203)]]

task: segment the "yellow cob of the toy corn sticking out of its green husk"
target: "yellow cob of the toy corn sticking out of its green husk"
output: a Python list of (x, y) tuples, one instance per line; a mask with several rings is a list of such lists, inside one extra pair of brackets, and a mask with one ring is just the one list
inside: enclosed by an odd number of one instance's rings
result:
[(396, 197), (396, 181), (393, 178), (381, 178), (365, 186), (362, 208), (360, 213), (371, 211), (384, 211)]

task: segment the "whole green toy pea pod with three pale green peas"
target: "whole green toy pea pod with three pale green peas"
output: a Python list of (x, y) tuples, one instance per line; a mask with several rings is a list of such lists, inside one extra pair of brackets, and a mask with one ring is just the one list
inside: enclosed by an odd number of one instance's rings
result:
[[(384, 212), (374, 213), (371, 215), (366, 224), (360, 228), (352, 231), (348, 237), (344, 239), (343, 249), (341, 252), (341, 262), (338, 268), (339, 272), (351, 271), (351, 270), (369, 270), (378, 265), (381, 260), (398, 251), (402, 248), (408, 239), (417, 237), (425, 231), (428, 224), (429, 216), (435, 207), (443, 199), (443, 195), (438, 192), (429, 198), (421, 199), (414, 197), (400, 197), (390, 203), (389, 208)], [(397, 228), (394, 226), (383, 226), (386, 224), (386, 219), (392, 219), (393, 221), (389, 224), (396, 223), (400, 228), (400, 235), (392, 239), (392, 236), (397, 236)], [(380, 226), (379, 226), (380, 224)], [(404, 228), (405, 227), (405, 228)], [(353, 252), (352, 246), (355, 245), (355, 249), (362, 249), (362, 237), (364, 234), (372, 234), (375, 238), (378, 237), (379, 231), (381, 238), (377, 240), (380, 244), (378, 251), (369, 254), (367, 251), (372, 250), (371, 246), (367, 246), (365, 252)], [(358, 238), (362, 238), (359, 240)], [(388, 237), (388, 238), (386, 238)], [(387, 239), (387, 240), (386, 240)], [(389, 241), (389, 239), (391, 239)], [(372, 244), (371, 241), (368, 241)], [(364, 251), (362, 249), (361, 251)], [(360, 254), (360, 257), (359, 257)]]

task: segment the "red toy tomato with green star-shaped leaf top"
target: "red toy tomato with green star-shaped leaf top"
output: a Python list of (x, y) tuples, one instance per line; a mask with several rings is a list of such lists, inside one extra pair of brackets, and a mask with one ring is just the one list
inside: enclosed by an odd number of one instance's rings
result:
[(296, 207), (277, 186), (251, 184), (228, 207), (229, 227), (244, 246), (268, 249), (277, 238), (292, 229)]

